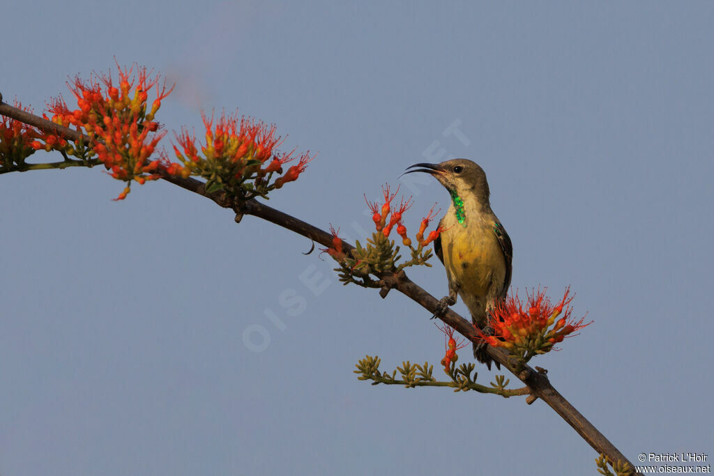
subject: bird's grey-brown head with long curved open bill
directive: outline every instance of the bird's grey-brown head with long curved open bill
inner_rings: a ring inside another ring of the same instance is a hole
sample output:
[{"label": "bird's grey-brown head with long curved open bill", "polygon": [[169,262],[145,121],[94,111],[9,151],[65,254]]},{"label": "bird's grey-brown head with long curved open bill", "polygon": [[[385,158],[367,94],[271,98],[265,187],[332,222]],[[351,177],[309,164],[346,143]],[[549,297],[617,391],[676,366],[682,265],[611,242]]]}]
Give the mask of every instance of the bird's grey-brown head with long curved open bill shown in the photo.
[{"label": "bird's grey-brown head with long curved open bill", "polygon": [[456,192],[461,197],[475,196],[479,203],[488,204],[486,173],[476,162],[455,158],[442,163],[415,163],[407,167],[405,173],[412,172],[429,173],[450,193]]}]

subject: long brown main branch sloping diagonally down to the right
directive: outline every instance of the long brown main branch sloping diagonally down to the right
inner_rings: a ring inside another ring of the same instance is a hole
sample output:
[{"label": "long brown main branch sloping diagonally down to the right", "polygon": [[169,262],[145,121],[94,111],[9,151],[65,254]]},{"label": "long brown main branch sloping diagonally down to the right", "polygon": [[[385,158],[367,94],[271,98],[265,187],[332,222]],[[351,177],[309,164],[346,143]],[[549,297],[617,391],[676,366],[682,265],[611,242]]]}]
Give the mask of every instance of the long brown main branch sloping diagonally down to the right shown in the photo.
[{"label": "long brown main branch sloping diagonally down to the right", "polygon": [[[0,94],[0,114],[4,116],[9,116],[15,118],[18,121],[28,123],[31,126],[35,126],[44,131],[59,134],[66,139],[73,141],[79,140],[79,138],[84,137],[85,140],[89,140],[88,136],[83,136],[77,131],[72,131],[69,128],[59,126],[56,123],[47,121],[39,116],[34,116],[34,114],[22,111],[19,108],[9,106],[9,104],[2,102],[2,96]],[[164,174],[162,178],[168,182],[174,183],[174,185],[181,188],[185,188],[188,191],[197,193],[198,195],[204,196],[212,201],[214,201],[218,206],[223,208],[233,208],[236,212],[236,221],[240,221],[243,215],[253,215],[258,218],[263,218],[263,220],[275,223],[278,226],[287,228],[288,230],[294,231],[299,235],[306,236],[323,246],[331,247],[332,245],[332,235],[326,231],[321,230],[309,223],[299,220],[293,216],[283,213],[266,206],[263,203],[259,203],[255,200],[248,200],[245,202],[236,201],[235,198],[228,196],[226,193],[221,191],[214,193],[206,193],[205,184],[193,178],[178,178],[174,176],[169,176]],[[343,250],[347,253],[354,247],[348,243],[343,242]],[[438,305],[438,300],[433,297],[433,295],[423,290],[419,285],[413,283],[405,273],[382,273],[379,275],[382,280],[384,288],[381,290],[381,295],[384,297],[388,292],[388,289],[394,288],[399,292],[407,295],[416,303],[420,304],[423,308],[428,310],[429,313],[434,313]],[[476,335],[476,331],[473,325],[461,315],[458,315],[453,310],[448,309],[441,317],[444,323],[451,325],[452,328],[456,329],[458,333],[468,338],[472,342],[480,342]],[[531,397],[526,401],[530,404],[535,401],[535,397],[540,398],[545,403],[547,403],[553,410],[555,410],[560,417],[563,418],[568,425],[573,427],[573,429],[578,432],[578,435],[583,437],[583,440],[588,442],[588,444],[593,447],[593,449],[605,455],[608,461],[612,464],[621,460],[623,462],[628,462],[630,467],[634,468],[634,465],[613,445],[605,436],[600,433],[600,431],[593,426],[583,415],[578,412],[578,410],[570,405],[568,400],[565,400],[563,395],[560,395],[553,385],[550,385],[550,381],[545,376],[545,373],[540,373],[528,365],[519,363],[518,361],[510,358],[505,350],[498,348],[488,347],[488,353],[491,355],[493,360],[501,363],[504,367],[516,375],[523,383],[528,385],[531,389]],[[636,473],[640,474],[640,473]]]}]

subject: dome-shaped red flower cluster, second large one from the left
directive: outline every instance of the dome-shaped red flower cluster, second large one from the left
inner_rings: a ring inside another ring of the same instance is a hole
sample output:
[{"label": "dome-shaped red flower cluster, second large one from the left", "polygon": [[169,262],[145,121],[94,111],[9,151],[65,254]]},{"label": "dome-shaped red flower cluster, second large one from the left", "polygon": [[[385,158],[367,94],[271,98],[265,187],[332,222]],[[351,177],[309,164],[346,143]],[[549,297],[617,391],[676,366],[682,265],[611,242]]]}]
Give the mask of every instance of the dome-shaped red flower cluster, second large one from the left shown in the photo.
[{"label": "dome-shaped red flower cluster, second large one from the left", "polygon": [[[171,164],[167,171],[183,176],[193,175],[206,178],[218,184],[219,188],[233,192],[243,188],[258,194],[267,193],[273,188],[281,188],[285,183],[297,180],[312,160],[309,153],[303,153],[298,163],[283,173],[283,164],[293,161],[295,151],[278,153],[276,148],[283,142],[276,136],[275,126],[268,126],[261,121],[221,114],[218,121],[213,116],[203,116],[206,127],[206,144],[201,146],[202,156],[198,154],[196,137],[185,129],[176,134],[178,146],[174,146],[178,164]],[[273,173],[281,175],[271,183]],[[252,181],[249,186],[243,186]]]}]

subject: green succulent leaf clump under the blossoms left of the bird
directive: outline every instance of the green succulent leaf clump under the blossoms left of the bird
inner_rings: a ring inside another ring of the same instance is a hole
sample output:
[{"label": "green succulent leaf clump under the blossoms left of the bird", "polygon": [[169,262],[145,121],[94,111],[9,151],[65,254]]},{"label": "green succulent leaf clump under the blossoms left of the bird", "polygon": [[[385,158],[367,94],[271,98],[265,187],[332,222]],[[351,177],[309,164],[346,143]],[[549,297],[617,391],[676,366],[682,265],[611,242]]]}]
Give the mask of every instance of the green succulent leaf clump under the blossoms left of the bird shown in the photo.
[{"label": "green succulent leaf clump under the blossoms left of the bird", "polygon": [[359,240],[355,243],[355,248],[351,253],[340,261],[340,267],[335,268],[340,280],[343,284],[355,283],[365,288],[378,288],[376,280],[370,275],[376,275],[384,272],[398,273],[408,266],[426,265],[427,260],[431,258],[431,248],[409,247],[411,251],[411,259],[404,263],[398,263],[402,256],[399,254],[401,249],[395,245],[394,240],[390,240],[384,236],[384,233],[379,231],[372,234],[371,238],[367,238],[366,245],[362,245]]}]

